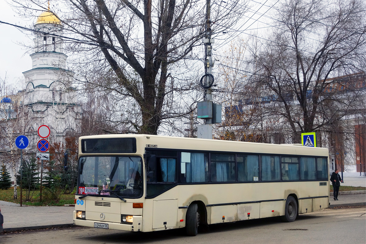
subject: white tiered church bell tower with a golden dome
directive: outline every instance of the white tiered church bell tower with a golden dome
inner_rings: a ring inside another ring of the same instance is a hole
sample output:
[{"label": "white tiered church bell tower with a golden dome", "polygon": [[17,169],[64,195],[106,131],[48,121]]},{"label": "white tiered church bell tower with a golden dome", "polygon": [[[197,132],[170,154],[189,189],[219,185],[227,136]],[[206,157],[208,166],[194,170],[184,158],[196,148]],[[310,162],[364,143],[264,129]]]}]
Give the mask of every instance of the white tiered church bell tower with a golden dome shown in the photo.
[{"label": "white tiered church bell tower with a golden dome", "polygon": [[43,12],[34,30],[31,69],[23,72],[26,83],[23,106],[34,117],[33,134],[37,135],[38,127],[45,124],[55,140],[55,136],[78,130],[81,105],[77,104],[76,90],[72,87],[74,72],[65,69],[67,55],[63,53],[60,20],[51,12]]}]

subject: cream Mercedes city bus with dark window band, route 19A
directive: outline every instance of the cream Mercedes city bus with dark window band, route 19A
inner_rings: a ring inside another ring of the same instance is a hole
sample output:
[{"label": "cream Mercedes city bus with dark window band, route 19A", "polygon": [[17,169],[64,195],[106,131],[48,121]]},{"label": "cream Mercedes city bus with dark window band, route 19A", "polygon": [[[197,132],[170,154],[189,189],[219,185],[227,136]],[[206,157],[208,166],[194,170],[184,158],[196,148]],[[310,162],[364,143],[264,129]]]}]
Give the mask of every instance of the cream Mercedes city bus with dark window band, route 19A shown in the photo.
[{"label": "cream Mercedes city bus with dark window band, route 19A", "polygon": [[[329,206],[328,149],[157,135],[79,138],[74,225],[152,232]],[[66,165],[66,162],[65,162]]]}]

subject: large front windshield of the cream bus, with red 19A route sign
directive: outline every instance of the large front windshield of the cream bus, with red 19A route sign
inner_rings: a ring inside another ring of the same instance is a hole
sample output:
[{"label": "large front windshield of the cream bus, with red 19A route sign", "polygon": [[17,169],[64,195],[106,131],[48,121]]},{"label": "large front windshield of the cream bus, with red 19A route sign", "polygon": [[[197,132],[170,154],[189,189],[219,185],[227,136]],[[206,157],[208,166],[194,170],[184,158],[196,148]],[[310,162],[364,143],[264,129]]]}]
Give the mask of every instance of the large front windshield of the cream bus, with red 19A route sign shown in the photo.
[{"label": "large front windshield of the cream bus, with red 19A route sign", "polygon": [[78,194],[123,198],[142,196],[141,157],[81,157],[79,174]]}]

